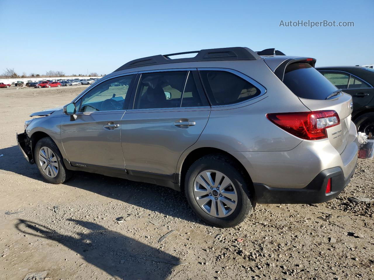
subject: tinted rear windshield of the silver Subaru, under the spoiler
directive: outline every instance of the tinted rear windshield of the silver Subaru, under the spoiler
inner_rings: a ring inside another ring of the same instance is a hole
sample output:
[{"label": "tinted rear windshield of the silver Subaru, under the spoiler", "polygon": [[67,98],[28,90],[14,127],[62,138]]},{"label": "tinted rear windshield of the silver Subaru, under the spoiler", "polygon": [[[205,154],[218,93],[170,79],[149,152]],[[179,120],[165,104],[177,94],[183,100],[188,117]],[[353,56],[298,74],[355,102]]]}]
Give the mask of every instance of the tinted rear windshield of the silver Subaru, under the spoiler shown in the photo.
[{"label": "tinted rear windshield of the silver Subaru, under the spoiler", "polygon": [[287,66],[283,83],[298,97],[324,100],[337,88],[309,63]]}]

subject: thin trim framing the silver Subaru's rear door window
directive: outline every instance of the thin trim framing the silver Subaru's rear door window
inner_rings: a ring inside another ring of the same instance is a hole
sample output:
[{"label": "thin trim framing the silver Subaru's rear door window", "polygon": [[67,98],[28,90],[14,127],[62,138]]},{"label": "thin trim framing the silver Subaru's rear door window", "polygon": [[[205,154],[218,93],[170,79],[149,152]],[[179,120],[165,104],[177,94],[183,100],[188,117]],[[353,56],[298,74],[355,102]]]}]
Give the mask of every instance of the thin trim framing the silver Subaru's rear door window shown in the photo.
[{"label": "thin trim framing the silver Subaru's rear door window", "polygon": [[[141,80],[141,76],[142,76],[141,74],[143,74],[143,73],[158,73],[158,72],[175,72],[175,71],[186,71],[187,72],[186,79],[184,80],[184,84],[183,84],[183,92],[182,92],[181,102],[180,102],[179,107],[134,109],[135,98],[136,98],[136,95],[137,95],[138,87],[140,85],[140,80]],[[188,106],[188,107],[182,107],[181,106],[182,101],[183,101],[184,90],[186,88],[186,84],[187,84],[188,77],[189,77],[190,74],[192,75],[192,77],[194,79],[194,82],[197,83],[197,81],[195,80],[195,76],[193,75],[193,71],[197,71],[197,68],[155,69],[155,70],[139,71],[137,81],[135,81],[135,83],[137,83],[137,85],[136,86],[134,85],[134,89],[133,89],[132,94],[131,94],[130,103],[132,105],[129,106],[128,110],[131,110],[131,111],[149,111],[149,110],[168,110],[168,109],[174,110],[174,109],[187,109],[187,108],[188,109],[189,108],[191,108],[191,109],[194,109],[194,108],[210,108],[209,105],[207,105],[207,106]],[[201,81],[200,81],[200,83],[201,83]],[[208,103],[210,103],[208,97],[205,94],[205,92],[200,92],[201,90],[199,90],[199,87],[197,85],[196,85],[196,88],[197,88],[197,91],[199,93],[200,98],[205,98],[208,101]]]}]

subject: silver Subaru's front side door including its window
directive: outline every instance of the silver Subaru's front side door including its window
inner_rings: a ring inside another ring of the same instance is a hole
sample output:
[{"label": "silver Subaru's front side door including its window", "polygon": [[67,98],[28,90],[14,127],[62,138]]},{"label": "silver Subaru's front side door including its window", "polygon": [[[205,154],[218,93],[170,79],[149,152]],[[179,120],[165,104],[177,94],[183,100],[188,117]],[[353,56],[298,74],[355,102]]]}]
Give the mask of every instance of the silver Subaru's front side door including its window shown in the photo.
[{"label": "silver Subaru's front side door including its window", "polygon": [[61,140],[72,165],[125,169],[121,118],[134,77],[120,76],[99,83],[77,100],[76,120],[63,118]]}]

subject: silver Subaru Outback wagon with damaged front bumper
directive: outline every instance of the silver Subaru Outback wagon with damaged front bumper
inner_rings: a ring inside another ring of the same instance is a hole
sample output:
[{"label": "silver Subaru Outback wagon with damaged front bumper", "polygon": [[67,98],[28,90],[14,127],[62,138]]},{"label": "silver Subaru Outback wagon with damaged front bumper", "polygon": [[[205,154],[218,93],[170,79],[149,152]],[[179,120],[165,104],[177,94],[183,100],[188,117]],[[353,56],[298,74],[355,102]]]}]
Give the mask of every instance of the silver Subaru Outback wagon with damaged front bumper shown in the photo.
[{"label": "silver Subaru Outback wagon with damaged front bumper", "polygon": [[[191,52],[188,52],[191,53]],[[132,60],[17,135],[49,183],[95,172],[183,191],[206,223],[338,196],[357,162],[352,97],[310,57],[246,47]]]}]

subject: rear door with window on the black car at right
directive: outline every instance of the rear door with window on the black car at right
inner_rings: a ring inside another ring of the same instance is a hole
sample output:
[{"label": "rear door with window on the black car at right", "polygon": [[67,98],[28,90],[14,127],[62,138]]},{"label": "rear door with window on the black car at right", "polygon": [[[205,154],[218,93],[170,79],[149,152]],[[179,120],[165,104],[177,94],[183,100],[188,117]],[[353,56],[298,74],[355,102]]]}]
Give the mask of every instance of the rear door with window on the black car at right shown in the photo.
[{"label": "rear door with window on the black car at right", "polygon": [[374,97],[374,89],[360,78],[341,71],[320,71],[327,80],[337,88],[352,96],[353,115],[356,111],[366,106]]}]

